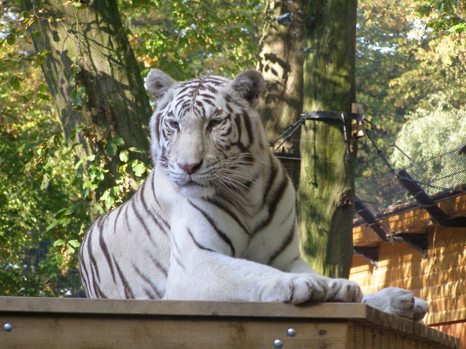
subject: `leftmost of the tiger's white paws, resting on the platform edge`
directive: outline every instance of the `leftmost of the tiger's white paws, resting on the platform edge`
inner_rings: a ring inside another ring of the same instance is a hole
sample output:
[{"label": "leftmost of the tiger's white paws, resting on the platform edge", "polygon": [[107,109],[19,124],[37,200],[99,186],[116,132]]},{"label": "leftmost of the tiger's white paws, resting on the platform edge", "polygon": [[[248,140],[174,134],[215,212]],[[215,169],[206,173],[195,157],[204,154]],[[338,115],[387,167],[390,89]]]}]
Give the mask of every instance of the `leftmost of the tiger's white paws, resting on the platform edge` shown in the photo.
[{"label": "leftmost of the tiger's white paws, resting on the platform edge", "polygon": [[292,275],[266,286],[260,296],[262,302],[320,302],[325,296],[322,280],[308,275]]}]

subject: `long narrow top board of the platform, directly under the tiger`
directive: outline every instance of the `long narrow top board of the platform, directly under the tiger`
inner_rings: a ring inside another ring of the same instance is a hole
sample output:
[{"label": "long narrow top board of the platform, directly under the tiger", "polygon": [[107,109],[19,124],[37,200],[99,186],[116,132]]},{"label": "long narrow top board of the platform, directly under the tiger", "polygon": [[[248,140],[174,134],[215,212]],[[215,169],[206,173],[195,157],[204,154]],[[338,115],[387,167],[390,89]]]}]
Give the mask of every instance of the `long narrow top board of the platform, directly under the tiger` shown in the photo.
[{"label": "long narrow top board of the platform, directly under the tiger", "polygon": [[211,302],[0,297],[0,312],[365,319],[362,303]]}]

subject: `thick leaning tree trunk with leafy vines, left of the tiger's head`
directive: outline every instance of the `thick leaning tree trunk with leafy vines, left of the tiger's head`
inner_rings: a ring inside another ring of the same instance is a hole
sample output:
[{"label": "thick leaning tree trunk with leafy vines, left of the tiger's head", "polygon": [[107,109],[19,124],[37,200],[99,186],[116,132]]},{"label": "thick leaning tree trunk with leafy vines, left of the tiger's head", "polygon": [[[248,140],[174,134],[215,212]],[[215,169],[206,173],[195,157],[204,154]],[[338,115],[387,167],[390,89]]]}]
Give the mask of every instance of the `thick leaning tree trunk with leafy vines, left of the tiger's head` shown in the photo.
[{"label": "thick leaning tree trunk with leafy vines, left of the tiger's head", "polygon": [[[38,17],[32,39],[37,50],[48,51],[42,70],[66,139],[81,145],[80,159],[96,154],[106,159],[109,171],[97,189],[99,198],[120,175],[115,137],[124,141],[117,142],[120,148],[149,150],[151,107],[116,2],[70,2],[26,1],[25,8]],[[147,153],[138,158],[150,162]],[[135,176],[131,171],[128,176],[134,189]]]}]

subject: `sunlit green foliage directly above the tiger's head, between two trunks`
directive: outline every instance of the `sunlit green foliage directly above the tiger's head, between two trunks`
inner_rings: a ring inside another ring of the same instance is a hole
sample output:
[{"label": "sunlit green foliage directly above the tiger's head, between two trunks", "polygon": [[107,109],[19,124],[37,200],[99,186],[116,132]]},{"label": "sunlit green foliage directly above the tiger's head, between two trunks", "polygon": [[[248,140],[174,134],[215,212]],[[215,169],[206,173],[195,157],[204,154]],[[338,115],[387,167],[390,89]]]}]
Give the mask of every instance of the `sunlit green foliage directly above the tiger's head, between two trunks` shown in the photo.
[{"label": "sunlit green foliage directly above the tiger's head, between two trunks", "polygon": [[121,0],[119,7],[145,69],[184,80],[209,73],[231,76],[257,64],[260,0]]}]

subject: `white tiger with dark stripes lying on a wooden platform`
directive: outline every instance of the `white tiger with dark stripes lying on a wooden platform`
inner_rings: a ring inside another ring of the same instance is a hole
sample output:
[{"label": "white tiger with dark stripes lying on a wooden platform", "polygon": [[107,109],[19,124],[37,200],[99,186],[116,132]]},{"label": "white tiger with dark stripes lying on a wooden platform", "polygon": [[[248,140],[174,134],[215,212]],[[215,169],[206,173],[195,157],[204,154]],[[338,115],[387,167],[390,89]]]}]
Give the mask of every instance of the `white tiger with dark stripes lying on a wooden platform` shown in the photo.
[{"label": "white tiger with dark stripes lying on a wooden platform", "polygon": [[428,305],[411,292],[362,296],[355,282],[323,277],[301,258],[293,186],[254,110],[264,86],[256,70],[186,82],[149,72],[154,169],[86,233],[79,266],[88,297],[362,301],[422,319]]}]

